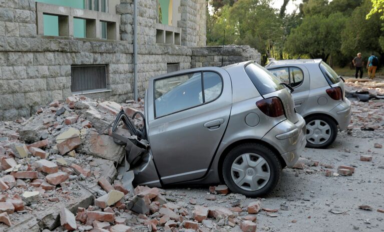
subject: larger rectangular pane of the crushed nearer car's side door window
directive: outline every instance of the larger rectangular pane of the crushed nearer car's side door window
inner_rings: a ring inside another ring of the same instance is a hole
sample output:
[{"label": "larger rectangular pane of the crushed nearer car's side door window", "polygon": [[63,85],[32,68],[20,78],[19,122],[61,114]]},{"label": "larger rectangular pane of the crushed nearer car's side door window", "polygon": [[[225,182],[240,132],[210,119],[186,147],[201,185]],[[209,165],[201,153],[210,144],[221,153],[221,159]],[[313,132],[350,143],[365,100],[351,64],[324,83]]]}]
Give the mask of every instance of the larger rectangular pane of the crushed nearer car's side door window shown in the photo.
[{"label": "larger rectangular pane of the crushed nearer car's side door window", "polygon": [[201,72],[155,80],[155,115],[161,117],[203,103]]}]

